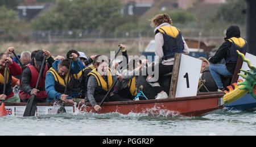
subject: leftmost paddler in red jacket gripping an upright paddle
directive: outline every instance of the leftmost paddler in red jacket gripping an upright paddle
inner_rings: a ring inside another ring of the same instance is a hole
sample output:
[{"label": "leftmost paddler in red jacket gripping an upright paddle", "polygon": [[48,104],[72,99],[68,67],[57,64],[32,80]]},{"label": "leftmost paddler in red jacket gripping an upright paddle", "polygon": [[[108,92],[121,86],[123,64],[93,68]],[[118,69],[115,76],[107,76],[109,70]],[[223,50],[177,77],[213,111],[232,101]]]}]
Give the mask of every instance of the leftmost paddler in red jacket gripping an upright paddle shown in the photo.
[{"label": "leftmost paddler in red jacket gripping an upright paddle", "polygon": [[[0,53],[0,100],[5,100],[5,102],[15,102],[19,103],[19,96],[13,93],[13,87],[11,86],[13,80],[11,76],[19,75],[22,73],[22,69],[18,64],[13,62],[13,60],[9,57],[14,51],[14,47],[9,47],[6,53]],[[8,62],[8,69],[6,69],[6,63]],[[7,70],[7,75],[5,75],[5,71]],[[5,85],[5,77],[6,79],[6,91],[3,94],[3,86]]]}]

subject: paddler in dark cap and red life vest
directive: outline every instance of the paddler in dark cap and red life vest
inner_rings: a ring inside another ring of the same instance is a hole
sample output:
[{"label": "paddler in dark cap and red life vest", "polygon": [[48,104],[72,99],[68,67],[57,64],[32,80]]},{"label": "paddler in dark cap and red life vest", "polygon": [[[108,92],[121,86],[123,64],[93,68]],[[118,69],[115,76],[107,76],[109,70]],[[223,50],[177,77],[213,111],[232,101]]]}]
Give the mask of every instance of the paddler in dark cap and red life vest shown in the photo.
[{"label": "paddler in dark cap and red life vest", "polygon": [[36,95],[39,103],[46,102],[47,93],[44,89],[46,72],[48,71],[49,65],[44,64],[42,77],[39,80],[38,89],[35,89],[36,82],[40,69],[43,64],[43,58],[45,53],[43,51],[36,52],[32,60],[25,66],[22,72],[22,80],[20,83],[21,90],[19,91],[20,102],[27,103],[31,95]]}]

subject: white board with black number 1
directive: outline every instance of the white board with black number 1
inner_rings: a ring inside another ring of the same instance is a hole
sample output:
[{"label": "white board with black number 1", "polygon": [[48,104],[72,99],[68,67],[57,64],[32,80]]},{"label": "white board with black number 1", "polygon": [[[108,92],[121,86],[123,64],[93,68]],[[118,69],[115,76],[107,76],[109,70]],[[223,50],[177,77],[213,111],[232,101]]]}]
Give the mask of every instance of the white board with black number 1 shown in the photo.
[{"label": "white board with black number 1", "polygon": [[202,61],[181,54],[175,98],[196,96]]}]

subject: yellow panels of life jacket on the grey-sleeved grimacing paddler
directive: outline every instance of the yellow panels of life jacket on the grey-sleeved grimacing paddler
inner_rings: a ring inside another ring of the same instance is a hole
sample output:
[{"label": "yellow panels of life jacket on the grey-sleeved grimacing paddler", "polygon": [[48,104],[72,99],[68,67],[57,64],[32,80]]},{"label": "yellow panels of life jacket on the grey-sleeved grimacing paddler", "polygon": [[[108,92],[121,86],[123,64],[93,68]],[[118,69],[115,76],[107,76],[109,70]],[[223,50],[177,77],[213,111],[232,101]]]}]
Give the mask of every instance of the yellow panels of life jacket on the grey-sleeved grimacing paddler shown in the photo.
[{"label": "yellow panels of life jacket on the grey-sleeved grimacing paddler", "polygon": [[108,72],[109,72],[108,75],[106,75],[107,79],[108,79],[108,83],[101,77],[101,75],[97,72],[96,69],[93,69],[88,74],[88,76],[93,75],[97,79],[98,86],[100,86],[105,91],[109,91],[110,87],[113,85],[113,77],[112,77],[112,74],[110,72],[110,69],[109,69]]}]

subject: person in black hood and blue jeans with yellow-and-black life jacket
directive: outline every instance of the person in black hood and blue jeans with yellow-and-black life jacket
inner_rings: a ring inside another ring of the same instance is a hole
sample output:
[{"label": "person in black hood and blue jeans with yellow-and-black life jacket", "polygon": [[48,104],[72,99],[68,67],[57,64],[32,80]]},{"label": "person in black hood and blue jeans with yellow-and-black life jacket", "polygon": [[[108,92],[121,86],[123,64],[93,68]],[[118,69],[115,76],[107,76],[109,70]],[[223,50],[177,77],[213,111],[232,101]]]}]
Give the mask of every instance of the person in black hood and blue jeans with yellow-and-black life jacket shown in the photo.
[{"label": "person in black hood and blue jeans with yellow-and-black life jacket", "polygon": [[[247,52],[247,42],[240,36],[240,28],[238,26],[230,26],[226,30],[225,42],[218,48],[213,57],[209,58],[210,73],[218,86],[218,91],[224,91],[225,88],[221,82],[220,75],[232,75],[236,68],[238,53]],[[222,59],[225,59],[225,64],[217,64]]]}]

